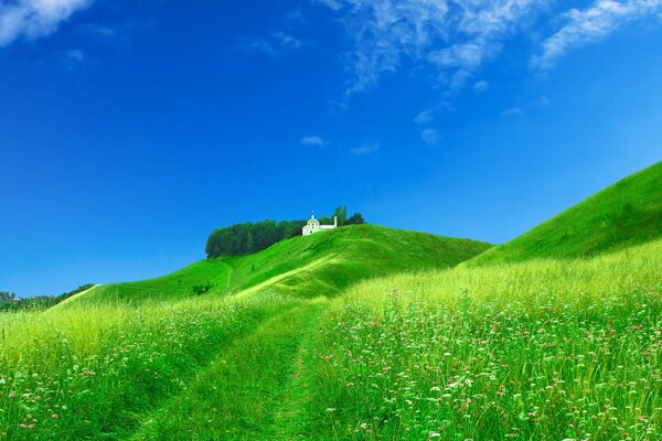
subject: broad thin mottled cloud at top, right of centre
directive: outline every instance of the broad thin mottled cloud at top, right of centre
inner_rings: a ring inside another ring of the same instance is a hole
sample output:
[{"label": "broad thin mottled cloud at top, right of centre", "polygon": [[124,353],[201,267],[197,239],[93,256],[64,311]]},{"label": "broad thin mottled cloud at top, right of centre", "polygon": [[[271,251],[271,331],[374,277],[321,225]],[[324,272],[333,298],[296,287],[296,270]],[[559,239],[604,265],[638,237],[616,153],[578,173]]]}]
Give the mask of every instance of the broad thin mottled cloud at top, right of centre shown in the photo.
[{"label": "broad thin mottled cloud at top, right of centre", "polygon": [[465,86],[549,0],[314,0],[341,14],[353,49],[346,95],[373,86],[404,60]]}]

